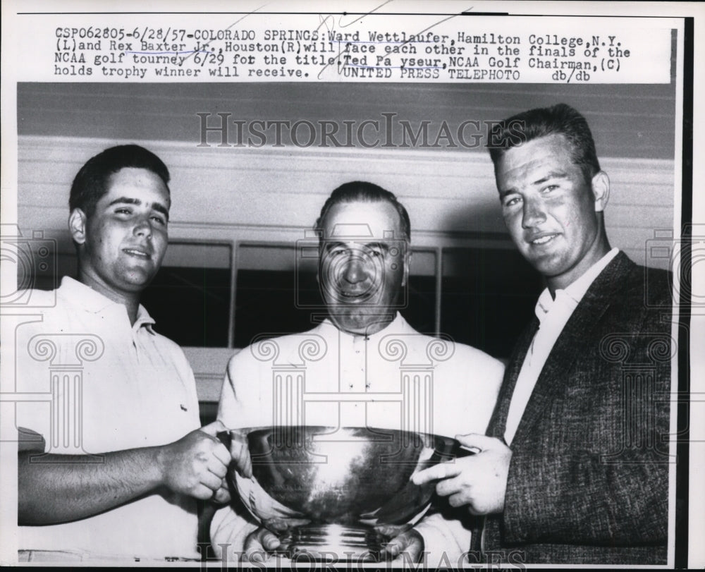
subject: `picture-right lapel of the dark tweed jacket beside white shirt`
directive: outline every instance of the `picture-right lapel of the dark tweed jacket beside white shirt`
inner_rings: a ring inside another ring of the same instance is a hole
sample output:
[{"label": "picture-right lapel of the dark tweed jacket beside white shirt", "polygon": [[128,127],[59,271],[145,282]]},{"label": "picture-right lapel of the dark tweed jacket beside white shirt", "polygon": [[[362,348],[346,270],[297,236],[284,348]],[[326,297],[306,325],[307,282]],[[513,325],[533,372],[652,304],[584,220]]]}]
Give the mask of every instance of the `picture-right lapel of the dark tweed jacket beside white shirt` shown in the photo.
[{"label": "picture-right lapel of the dark tweed jacket beside white shirt", "polygon": [[[568,374],[580,353],[579,348],[587,340],[592,339],[594,329],[598,327],[601,317],[613,303],[615,291],[620,288],[633,266],[634,263],[620,252],[588,288],[563,331],[560,332],[551,353],[548,354],[517,427],[513,444],[519,444],[529,437],[534,423],[542,417],[544,409],[551,404],[552,397],[563,391],[565,384],[570,382]],[[525,355],[525,352],[522,355]],[[518,368],[521,368],[522,361],[517,364]],[[512,391],[518,375],[517,371],[513,379]],[[508,403],[506,408],[508,410]]]}]

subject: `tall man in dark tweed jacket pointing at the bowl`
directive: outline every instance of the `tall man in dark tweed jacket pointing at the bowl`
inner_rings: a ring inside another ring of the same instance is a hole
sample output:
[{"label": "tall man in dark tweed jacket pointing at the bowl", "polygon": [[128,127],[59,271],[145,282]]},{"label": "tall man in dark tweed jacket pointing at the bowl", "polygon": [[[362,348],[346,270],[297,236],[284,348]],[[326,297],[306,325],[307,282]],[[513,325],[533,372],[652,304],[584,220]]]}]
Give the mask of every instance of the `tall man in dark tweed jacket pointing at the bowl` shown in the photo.
[{"label": "tall man in dark tweed jacket pointing at the bowl", "polygon": [[415,481],[441,478],[451,505],[486,515],[472,543],[486,562],[666,564],[669,275],[610,248],[609,180],[575,109],[514,116],[489,147],[505,224],[546,290],[487,435],[460,437],[479,452]]}]

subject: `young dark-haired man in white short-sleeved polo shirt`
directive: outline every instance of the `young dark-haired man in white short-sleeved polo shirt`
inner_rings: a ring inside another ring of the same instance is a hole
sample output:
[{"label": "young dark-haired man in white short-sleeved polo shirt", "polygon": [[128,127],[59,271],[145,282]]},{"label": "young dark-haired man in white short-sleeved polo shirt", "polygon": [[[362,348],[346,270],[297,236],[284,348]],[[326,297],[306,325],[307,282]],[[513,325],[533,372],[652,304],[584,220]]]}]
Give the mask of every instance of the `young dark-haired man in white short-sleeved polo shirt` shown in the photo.
[{"label": "young dark-haired man in white short-sleeved polo shirt", "polygon": [[18,391],[37,395],[16,406],[21,561],[196,558],[195,499],[229,499],[223,427],[199,429],[191,368],[140,305],[166,252],[168,181],[137,145],[73,181],[78,280],[34,292],[42,315],[16,331]]}]

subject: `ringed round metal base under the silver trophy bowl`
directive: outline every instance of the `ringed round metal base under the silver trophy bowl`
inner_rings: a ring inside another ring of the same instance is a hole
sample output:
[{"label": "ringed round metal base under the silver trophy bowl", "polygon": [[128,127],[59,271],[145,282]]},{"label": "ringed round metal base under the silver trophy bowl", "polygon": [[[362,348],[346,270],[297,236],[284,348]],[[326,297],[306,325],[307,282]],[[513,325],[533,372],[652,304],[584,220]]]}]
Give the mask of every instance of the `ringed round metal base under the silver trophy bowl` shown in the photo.
[{"label": "ringed round metal base under the silver trophy bowl", "polygon": [[365,525],[316,524],[292,528],[281,538],[291,559],[379,562],[386,538]]}]

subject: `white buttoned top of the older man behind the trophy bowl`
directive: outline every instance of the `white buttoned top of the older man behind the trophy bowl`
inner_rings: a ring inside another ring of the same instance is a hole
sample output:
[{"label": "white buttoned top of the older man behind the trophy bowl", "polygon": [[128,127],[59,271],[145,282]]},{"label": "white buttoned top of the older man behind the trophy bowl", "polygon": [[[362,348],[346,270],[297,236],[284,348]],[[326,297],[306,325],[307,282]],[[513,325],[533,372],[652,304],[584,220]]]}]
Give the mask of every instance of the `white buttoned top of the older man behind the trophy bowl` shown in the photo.
[{"label": "white buttoned top of the older man behind the trophy bowl", "polygon": [[[233,356],[218,418],[231,429],[324,425],[450,437],[484,433],[503,370],[482,351],[419,334],[401,315],[367,337],[326,320],[311,331],[255,343]],[[211,525],[216,554],[221,543],[230,544],[228,552],[242,550],[257,528],[243,511],[226,506],[216,512]],[[416,528],[426,549],[436,552],[436,562],[443,552],[458,561],[470,546],[470,530],[440,513]]]}]

